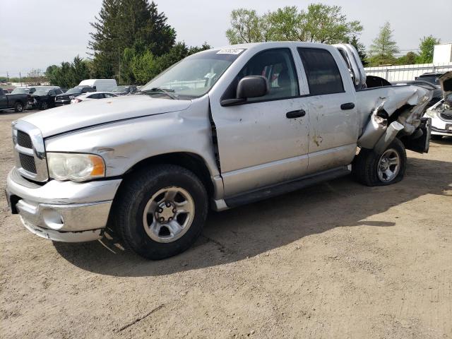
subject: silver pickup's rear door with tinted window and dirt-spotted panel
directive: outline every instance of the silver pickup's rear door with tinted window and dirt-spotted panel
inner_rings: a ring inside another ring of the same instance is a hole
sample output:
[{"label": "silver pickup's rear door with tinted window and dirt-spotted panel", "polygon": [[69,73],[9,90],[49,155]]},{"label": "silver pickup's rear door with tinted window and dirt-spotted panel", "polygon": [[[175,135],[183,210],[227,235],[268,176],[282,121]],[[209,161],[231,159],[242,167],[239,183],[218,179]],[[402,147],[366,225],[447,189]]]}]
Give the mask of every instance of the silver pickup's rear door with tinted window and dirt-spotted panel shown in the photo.
[{"label": "silver pickup's rear door with tinted window and dirt-spotted panel", "polygon": [[355,157],[359,133],[350,73],[338,67],[337,63],[343,62],[340,55],[327,48],[297,50],[309,87],[308,172],[348,165]]}]

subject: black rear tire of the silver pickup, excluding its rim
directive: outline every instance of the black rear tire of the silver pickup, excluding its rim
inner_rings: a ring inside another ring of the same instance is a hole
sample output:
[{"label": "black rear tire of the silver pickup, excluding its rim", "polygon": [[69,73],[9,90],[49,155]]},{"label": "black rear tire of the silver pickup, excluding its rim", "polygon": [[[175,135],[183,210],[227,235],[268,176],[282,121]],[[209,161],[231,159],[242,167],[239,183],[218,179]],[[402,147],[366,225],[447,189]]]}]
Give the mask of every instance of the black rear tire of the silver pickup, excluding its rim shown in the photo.
[{"label": "black rear tire of the silver pickup, excluding its rim", "polygon": [[[396,177],[393,177],[393,179],[388,181],[383,181],[378,174],[378,165],[381,156],[387,150],[394,150],[398,154],[400,167]],[[396,184],[396,182],[400,182],[400,180],[403,179],[406,164],[407,154],[405,146],[398,138],[395,138],[388,148],[386,148],[386,150],[384,150],[381,154],[376,154],[374,150],[362,148],[357,157],[355,157],[355,160],[353,160],[352,174],[357,182],[366,186],[386,186]]]}]

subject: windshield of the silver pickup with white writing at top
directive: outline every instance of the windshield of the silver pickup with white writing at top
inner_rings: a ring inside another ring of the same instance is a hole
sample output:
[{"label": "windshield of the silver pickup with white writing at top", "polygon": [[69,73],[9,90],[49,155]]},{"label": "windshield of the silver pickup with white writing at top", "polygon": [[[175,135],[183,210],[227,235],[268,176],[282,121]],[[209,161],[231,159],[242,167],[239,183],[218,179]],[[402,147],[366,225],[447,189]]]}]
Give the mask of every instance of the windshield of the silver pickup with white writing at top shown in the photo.
[{"label": "windshield of the silver pickup with white writing at top", "polygon": [[243,51],[221,49],[191,55],[160,73],[140,90],[145,94],[162,93],[163,90],[163,93],[170,92],[176,99],[201,97]]}]

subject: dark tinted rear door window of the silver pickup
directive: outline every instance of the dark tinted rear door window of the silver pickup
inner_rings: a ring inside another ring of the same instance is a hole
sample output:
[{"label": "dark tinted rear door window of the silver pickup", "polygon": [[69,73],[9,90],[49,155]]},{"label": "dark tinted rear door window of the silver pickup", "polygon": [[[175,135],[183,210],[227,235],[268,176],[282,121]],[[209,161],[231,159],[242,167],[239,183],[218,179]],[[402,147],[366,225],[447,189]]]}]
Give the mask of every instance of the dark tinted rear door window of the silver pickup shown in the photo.
[{"label": "dark tinted rear door window of the silver pickup", "polygon": [[320,48],[298,48],[298,53],[303,62],[311,95],[344,91],[338,65],[330,52]]}]

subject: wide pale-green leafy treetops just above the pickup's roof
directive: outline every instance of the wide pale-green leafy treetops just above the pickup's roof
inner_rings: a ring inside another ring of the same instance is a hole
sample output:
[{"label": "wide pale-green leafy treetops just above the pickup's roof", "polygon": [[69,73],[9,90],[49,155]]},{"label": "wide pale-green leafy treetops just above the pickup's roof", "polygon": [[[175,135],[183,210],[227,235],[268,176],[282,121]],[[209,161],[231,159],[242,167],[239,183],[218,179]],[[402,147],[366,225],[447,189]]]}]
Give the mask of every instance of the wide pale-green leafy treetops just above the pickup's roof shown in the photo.
[{"label": "wide pale-green leafy treetops just above the pickup's roof", "polygon": [[334,44],[361,31],[359,21],[347,21],[340,6],[310,4],[307,10],[286,6],[263,16],[254,10],[235,9],[226,37],[231,44],[281,40]]}]

